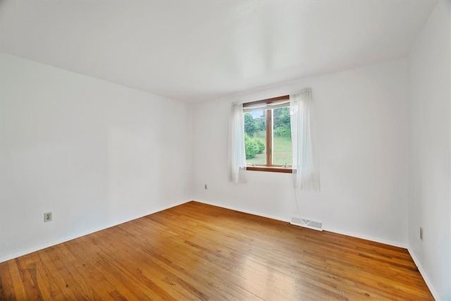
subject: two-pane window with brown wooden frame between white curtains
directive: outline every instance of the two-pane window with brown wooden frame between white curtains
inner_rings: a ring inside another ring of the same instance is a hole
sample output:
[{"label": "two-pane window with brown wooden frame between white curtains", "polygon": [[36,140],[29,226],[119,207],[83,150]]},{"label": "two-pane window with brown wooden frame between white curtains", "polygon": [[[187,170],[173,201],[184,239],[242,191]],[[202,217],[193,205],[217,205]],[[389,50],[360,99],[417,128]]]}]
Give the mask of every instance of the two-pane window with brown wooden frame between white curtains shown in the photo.
[{"label": "two-pane window with brown wooden frame between white curtains", "polygon": [[247,170],[292,172],[290,97],[243,104]]}]

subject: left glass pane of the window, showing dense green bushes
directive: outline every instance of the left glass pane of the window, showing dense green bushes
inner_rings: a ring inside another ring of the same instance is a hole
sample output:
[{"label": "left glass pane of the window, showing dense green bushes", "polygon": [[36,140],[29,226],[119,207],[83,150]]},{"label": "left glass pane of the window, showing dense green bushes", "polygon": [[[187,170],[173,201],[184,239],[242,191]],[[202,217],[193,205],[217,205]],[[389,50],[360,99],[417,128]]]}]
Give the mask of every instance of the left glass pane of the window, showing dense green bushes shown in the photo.
[{"label": "left glass pane of the window, showing dense green bushes", "polygon": [[247,164],[266,164],[266,111],[245,113]]}]

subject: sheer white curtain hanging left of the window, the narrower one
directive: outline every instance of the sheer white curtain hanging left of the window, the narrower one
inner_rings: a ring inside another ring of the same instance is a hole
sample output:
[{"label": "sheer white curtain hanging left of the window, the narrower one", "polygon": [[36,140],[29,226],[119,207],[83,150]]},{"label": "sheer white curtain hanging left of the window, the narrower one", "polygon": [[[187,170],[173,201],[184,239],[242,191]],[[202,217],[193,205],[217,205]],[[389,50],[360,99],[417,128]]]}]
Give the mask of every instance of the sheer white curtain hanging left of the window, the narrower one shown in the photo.
[{"label": "sheer white curtain hanging left of the window, the narrower one", "polygon": [[245,151],[245,118],[242,104],[232,104],[230,116],[230,181],[245,182],[246,151]]}]

